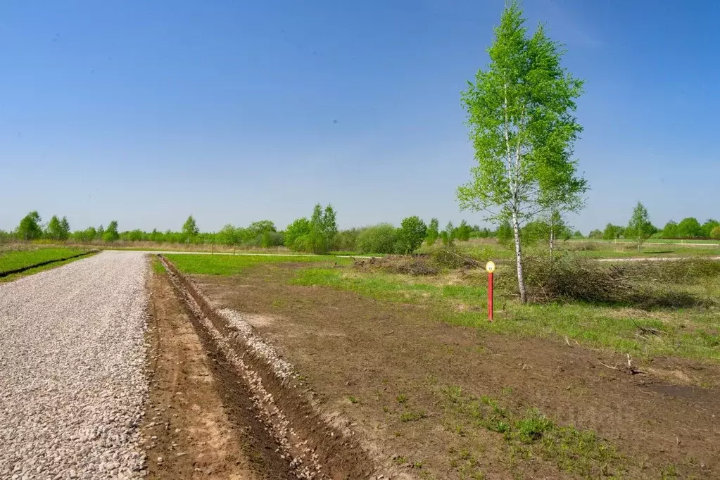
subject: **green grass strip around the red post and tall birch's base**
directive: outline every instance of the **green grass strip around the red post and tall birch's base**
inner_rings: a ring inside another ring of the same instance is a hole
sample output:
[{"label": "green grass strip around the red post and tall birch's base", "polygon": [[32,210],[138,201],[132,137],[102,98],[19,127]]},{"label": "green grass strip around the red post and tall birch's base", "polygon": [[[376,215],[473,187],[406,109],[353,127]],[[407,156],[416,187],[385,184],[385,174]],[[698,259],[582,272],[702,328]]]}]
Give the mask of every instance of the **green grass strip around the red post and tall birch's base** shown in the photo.
[{"label": "green grass strip around the red post and tall birch's base", "polygon": [[[720,316],[710,309],[639,309],[566,302],[521,305],[495,297],[495,322],[487,321],[484,284],[447,285],[423,277],[390,273],[359,273],[346,268],[307,268],[295,273],[293,284],[355,291],[384,302],[418,304],[433,309],[431,317],[479,330],[557,338],[593,348],[630,353],[634,358],[680,356],[720,361]],[[482,282],[482,273],[468,282]],[[720,279],[691,287],[720,296]],[[503,308],[504,307],[504,308]],[[643,329],[652,329],[644,334]]]}]

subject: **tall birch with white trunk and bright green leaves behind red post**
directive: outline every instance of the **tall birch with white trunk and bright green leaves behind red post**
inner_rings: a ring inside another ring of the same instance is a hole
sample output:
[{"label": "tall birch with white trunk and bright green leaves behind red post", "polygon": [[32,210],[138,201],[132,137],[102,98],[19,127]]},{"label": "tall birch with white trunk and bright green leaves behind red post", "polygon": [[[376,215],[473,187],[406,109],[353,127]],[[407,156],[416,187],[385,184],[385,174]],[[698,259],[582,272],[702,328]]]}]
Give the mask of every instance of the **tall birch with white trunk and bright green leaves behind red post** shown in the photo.
[{"label": "tall birch with white trunk and bright green leaves behind red post", "polygon": [[462,209],[509,220],[521,302],[527,301],[521,226],[546,211],[551,189],[584,183],[570,160],[582,131],[574,116],[582,81],[562,68],[564,50],[542,24],[531,36],[524,25],[518,2],[511,1],[487,49],[490,62],[462,93],[477,165],[457,191]]}]

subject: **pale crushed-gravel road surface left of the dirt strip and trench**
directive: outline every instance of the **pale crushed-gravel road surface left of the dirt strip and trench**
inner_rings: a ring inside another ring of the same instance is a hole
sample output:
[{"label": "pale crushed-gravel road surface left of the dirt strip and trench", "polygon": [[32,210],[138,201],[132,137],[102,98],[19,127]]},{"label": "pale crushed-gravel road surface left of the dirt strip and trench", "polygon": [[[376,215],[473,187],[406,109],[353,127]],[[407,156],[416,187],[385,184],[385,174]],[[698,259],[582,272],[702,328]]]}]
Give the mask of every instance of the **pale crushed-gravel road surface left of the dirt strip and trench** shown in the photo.
[{"label": "pale crushed-gravel road surface left of the dirt strip and trench", "polygon": [[0,479],[143,476],[146,272],[104,252],[0,284]]}]

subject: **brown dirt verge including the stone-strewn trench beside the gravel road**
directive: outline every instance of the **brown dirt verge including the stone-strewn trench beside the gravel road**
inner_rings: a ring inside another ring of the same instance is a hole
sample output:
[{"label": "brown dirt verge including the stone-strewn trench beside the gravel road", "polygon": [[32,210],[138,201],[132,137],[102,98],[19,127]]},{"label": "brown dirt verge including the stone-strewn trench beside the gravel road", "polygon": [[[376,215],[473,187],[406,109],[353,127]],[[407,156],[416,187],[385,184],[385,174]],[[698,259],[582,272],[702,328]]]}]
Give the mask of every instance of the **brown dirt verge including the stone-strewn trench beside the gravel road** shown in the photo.
[{"label": "brown dirt verge including the stone-strewn trench beside the gravel road", "polygon": [[[163,259],[161,259],[163,261]],[[171,264],[153,273],[150,479],[365,479],[374,462],[313,393],[243,343]]]}]

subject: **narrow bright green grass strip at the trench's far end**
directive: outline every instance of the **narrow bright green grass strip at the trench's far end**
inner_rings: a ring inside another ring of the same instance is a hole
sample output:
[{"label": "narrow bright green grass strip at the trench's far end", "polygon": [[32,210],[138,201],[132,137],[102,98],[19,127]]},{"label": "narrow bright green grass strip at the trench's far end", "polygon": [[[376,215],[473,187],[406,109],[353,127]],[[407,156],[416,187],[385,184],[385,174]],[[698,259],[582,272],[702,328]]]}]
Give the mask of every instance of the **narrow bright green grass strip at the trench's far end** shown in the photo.
[{"label": "narrow bright green grass strip at the trench's far end", "polygon": [[238,275],[244,269],[258,264],[277,263],[351,263],[348,258],[328,257],[322,255],[282,256],[282,255],[192,255],[170,254],[166,258],[183,273],[192,275]]}]

